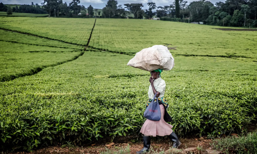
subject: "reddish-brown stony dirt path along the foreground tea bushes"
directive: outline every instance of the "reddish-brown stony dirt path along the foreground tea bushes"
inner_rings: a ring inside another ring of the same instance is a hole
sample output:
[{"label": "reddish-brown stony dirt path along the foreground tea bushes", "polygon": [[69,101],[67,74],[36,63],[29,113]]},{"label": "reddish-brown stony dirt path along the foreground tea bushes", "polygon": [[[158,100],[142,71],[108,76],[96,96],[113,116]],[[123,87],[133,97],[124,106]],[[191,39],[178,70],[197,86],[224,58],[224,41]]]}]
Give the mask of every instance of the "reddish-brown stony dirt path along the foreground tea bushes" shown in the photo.
[{"label": "reddish-brown stony dirt path along the foreground tea bushes", "polygon": [[[200,141],[201,140],[201,141]],[[173,153],[179,153],[179,154],[186,154],[190,153],[199,153],[199,154],[208,154],[212,153],[212,148],[210,146],[210,143],[213,142],[213,140],[207,139],[206,137],[204,138],[191,138],[191,139],[180,139],[182,145],[178,148],[178,151],[174,151]],[[125,141],[126,142],[126,141]],[[132,142],[126,142],[122,143],[115,143],[116,145],[109,146],[109,148],[106,146],[108,145],[107,143],[102,143],[102,144],[93,144],[93,145],[83,145],[80,147],[73,147],[73,146],[66,146],[64,148],[61,148],[60,146],[53,146],[53,147],[46,147],[46,148],[41,148],[38,150],[34,150],[33,152],[12,152],[11,154],[20,154],[20,153],[35,153],[35,154],[99,154],[101,151],[106,149],[109,150],[115,150],[118,148],[115,147],[121,147],[125,148],[128,146],[130,147],[131,154],[136,153],[136,151],[139,151],[143,147],[143,143],[132,143]],[[151,141],[151,147],[153,148],[153,151],[166,151],[166,153],[169,153],[169,149],[171,147],[171,143],[169,139],[163,139],[161,141]],[[197,148],[198,147],[198,148]],[[200,150],[199,150],[200,149]],[[168,151],[167,151],[168,150]],[[172,150],[172,149],[170,149]],[[174,149],[173,149],[174,150]],[[209,152],[207,152],[207,151]],[[9,152],[8,152],[9,153]],[[155,153],[155,152],[150,152],[150,153]],[[172,153],[172,152],[170,152]],[[219,152],[218,152],[219,153]]]}]

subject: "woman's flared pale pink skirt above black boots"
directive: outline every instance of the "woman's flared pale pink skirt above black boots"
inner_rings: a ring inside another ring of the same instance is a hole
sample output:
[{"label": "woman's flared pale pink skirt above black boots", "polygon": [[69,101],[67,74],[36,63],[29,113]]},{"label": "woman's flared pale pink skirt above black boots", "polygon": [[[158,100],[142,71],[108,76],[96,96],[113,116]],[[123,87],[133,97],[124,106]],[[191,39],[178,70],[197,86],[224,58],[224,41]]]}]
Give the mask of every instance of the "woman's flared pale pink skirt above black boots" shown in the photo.
[{"label": "woman's flared pale pink skirt above black boots", "polygon": [[172,133],[173,130],[171,128],[173,126],[165,122],[163,119],[165,109],[162,104],[160,105],[160,109],[161,109],[161,120],[153,121],[153,120],[146,119],[146,121],[144,122],[140,130],[140,133],[147,136],[153,136],[153,137],[155,137],[156,135],[158,136],[170,135]]}]

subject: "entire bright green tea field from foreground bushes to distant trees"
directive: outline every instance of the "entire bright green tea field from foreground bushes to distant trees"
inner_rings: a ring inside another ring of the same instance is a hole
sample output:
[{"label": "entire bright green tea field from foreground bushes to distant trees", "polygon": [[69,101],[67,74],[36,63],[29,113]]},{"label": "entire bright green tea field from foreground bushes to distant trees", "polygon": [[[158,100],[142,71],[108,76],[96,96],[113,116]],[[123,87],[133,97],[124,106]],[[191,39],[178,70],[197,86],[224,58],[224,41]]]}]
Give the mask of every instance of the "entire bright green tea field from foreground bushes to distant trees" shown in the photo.
[{"label": "entire bright green tea field from foreground bushes to distant trees", "polygon": [[126,64],[155,44],[178,46],[175,67],[162,73],[173,130],[241,132],[257,112],[257,33],[213,28],[220,27],[0,17],[0,148],[140,135],[150,73]]}]

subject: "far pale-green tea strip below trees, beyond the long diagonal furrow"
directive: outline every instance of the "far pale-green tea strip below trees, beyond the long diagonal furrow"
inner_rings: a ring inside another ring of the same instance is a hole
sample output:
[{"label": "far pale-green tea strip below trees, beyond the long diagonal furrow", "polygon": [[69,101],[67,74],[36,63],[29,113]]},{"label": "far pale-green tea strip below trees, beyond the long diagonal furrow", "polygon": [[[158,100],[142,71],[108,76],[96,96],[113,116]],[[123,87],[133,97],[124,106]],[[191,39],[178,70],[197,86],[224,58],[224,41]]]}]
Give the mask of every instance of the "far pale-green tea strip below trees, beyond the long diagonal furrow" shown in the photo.
[{"label": "far pale-green tea strip below trees, beyond the long diagonal furrow", "polygon": [[[0,27],[32,33],[78,45],[87,44],[95,19],[2,19]],[[89,46],[117,53],[135,54],[155,44],[178,46],[174,54],[211,55],[257,60],[257,31],[221,31],[224,28],[180,22],[97,19]]]}]

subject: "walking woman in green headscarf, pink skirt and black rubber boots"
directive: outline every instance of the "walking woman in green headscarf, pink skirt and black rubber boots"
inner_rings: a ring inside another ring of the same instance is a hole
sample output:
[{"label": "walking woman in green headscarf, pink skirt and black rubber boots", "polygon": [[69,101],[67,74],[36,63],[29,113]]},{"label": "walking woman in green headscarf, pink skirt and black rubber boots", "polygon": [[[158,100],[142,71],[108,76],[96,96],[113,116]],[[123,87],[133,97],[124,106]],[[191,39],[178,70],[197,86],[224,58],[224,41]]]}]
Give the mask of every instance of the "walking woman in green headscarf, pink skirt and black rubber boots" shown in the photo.
[{"label": "walking woman in green headscarf, pink skirt and black rubber boots", "polygon": [[164,119],[165,120],[167,119],[166,114],[168,113],[166,109],[168,108],[168,104],[163,98],[166,84],[165,84],[165,81],[161,79],[161,72],[162,72],[162,69],[151,71],[151,77],[149,80],[151,84],[148,90],[149,100],[146,103],[146,107],[147,107],[149,103],[152,101],[155,93],[157,92],[156,97],[158,98],[158,102],[161,102],[159,103],[160,109],[161,109],[161,120],[152,121],[152,120],[146,119],[146,121],[144,122],[140,130],[140,133],[144,134],[143,136],[144,147],[143,149],[141,149],[140,151],[137,151],[136,153],[143,153],[143,152],[149,151],[150,144],[151,144],[150,136],[155,137],[156,135],[158,136],[168,135],[169,139],[174,142],[173,148],[178,148],[181,145],[181,142],[179,141],[177,135],[171,129],[173,126],[164,121]]}]

